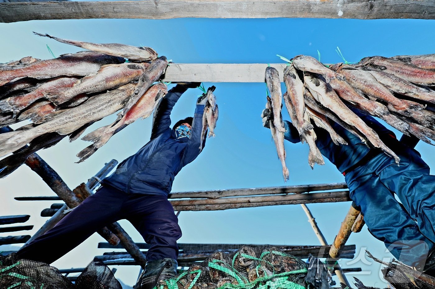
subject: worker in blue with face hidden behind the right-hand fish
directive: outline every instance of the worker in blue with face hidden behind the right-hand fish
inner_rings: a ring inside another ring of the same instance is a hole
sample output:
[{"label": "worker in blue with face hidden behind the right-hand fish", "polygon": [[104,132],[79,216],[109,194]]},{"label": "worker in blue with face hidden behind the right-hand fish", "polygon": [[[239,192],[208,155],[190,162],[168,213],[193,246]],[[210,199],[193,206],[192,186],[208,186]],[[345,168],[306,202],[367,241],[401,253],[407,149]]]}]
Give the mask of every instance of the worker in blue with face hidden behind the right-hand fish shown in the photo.
[{"label": "worker in blue with face hidden behind the right-hand fish", "polygon": [[[399,261],[422,271],[435,242],[435,176],[429,174],[418,151],[398,141],[392,131],[371,116],[354,112],[399,156],[399,165],[335,122],[331,122],[332,127],[348,145],[334,144],[325,129],[314,126],[316,145],[345,175],[353,205],[361,207],[371,234],[383,241]],[[271,112],[265,109],[261,117],[263,125],[269,127]],[[284,121],[284,127],[286,140],[301,141],[291,122]]]}]

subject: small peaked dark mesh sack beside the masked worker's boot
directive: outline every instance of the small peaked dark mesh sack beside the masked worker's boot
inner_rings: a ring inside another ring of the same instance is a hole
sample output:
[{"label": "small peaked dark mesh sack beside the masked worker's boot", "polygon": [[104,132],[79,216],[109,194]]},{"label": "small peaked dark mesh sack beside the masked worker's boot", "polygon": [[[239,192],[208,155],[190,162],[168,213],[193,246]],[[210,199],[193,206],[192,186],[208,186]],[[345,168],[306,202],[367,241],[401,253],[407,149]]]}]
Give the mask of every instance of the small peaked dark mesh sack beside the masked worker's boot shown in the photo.
[{"label": "small peaked dark mesh sack beside the masked worker's boot", "polygon": [[77,277],[77,289],[122,289],[120,282],[102,261],[95,258]]}]

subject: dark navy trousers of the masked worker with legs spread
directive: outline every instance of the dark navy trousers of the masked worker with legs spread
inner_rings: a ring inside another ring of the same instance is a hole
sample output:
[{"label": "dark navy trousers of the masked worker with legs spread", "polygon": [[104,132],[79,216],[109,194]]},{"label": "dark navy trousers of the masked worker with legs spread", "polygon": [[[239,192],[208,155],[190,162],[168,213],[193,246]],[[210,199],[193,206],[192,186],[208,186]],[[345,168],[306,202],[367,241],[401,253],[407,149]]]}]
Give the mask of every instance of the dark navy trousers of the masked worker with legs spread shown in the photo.
[{"label": "dark navy trousers of the masked worker with legs spread", "polygon": [[127,194],[103,186],[67,214],[55,227],[17,252],[23,259],[52,263],[97,230],[126,219],[151,244],[147,261],[177,259],[181,229],[164,195]]}]

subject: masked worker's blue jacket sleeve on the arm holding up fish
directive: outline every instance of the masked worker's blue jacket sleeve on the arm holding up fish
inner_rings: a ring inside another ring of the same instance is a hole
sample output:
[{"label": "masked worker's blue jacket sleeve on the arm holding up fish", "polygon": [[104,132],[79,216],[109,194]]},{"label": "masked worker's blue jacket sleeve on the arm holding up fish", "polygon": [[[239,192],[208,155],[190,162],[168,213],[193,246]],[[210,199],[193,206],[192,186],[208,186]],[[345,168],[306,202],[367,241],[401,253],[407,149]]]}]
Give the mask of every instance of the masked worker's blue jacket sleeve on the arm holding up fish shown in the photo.
[{"label": "masked worker's blue jacket sleeve on the arm holding up fish", "polygon": [[183,158],[181,160],[181,165],[185,166],[186,164],[193,161],[204,149],[205,147],[205,138],[202,143],[202,149],[199,150],[199,146],[201,144],[201,131],[202,131],[202,116],[204,114],[204,105],[196,105],[195,115],[192,122],[192,132],[189,136],[189,140],[187,141],[186,148],[184,149]]}]

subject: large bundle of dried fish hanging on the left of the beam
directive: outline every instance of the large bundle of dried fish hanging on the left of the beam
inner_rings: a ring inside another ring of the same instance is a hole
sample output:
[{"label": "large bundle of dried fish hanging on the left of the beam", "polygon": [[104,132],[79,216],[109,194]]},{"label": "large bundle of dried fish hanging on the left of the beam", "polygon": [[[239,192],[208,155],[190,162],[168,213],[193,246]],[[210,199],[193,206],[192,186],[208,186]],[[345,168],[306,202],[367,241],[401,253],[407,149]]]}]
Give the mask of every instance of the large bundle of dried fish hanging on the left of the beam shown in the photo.
[{"label": "large bundle of dried fish hanging on the left of the beam", "polygon": [[[126,125],[151,115],[167,93],[164,83],[153,85],[167,67],[166,57],[158,57],[154,49],[35,34],[91,51],[48,60],[29,56],[0,65],[0,128],[23,120],[31,122],[0,135],[0,157],[27,143],[30,148],[26,151],[34,152],[66,135],[73,141],[92,123],[122,109],[113,124],[83,138],[94,142],[77,154],[84,161]],[[22,162],[23,158],[14,155],[1,160],[0,169],[9,169],[0,172],[0,177]]]}]

